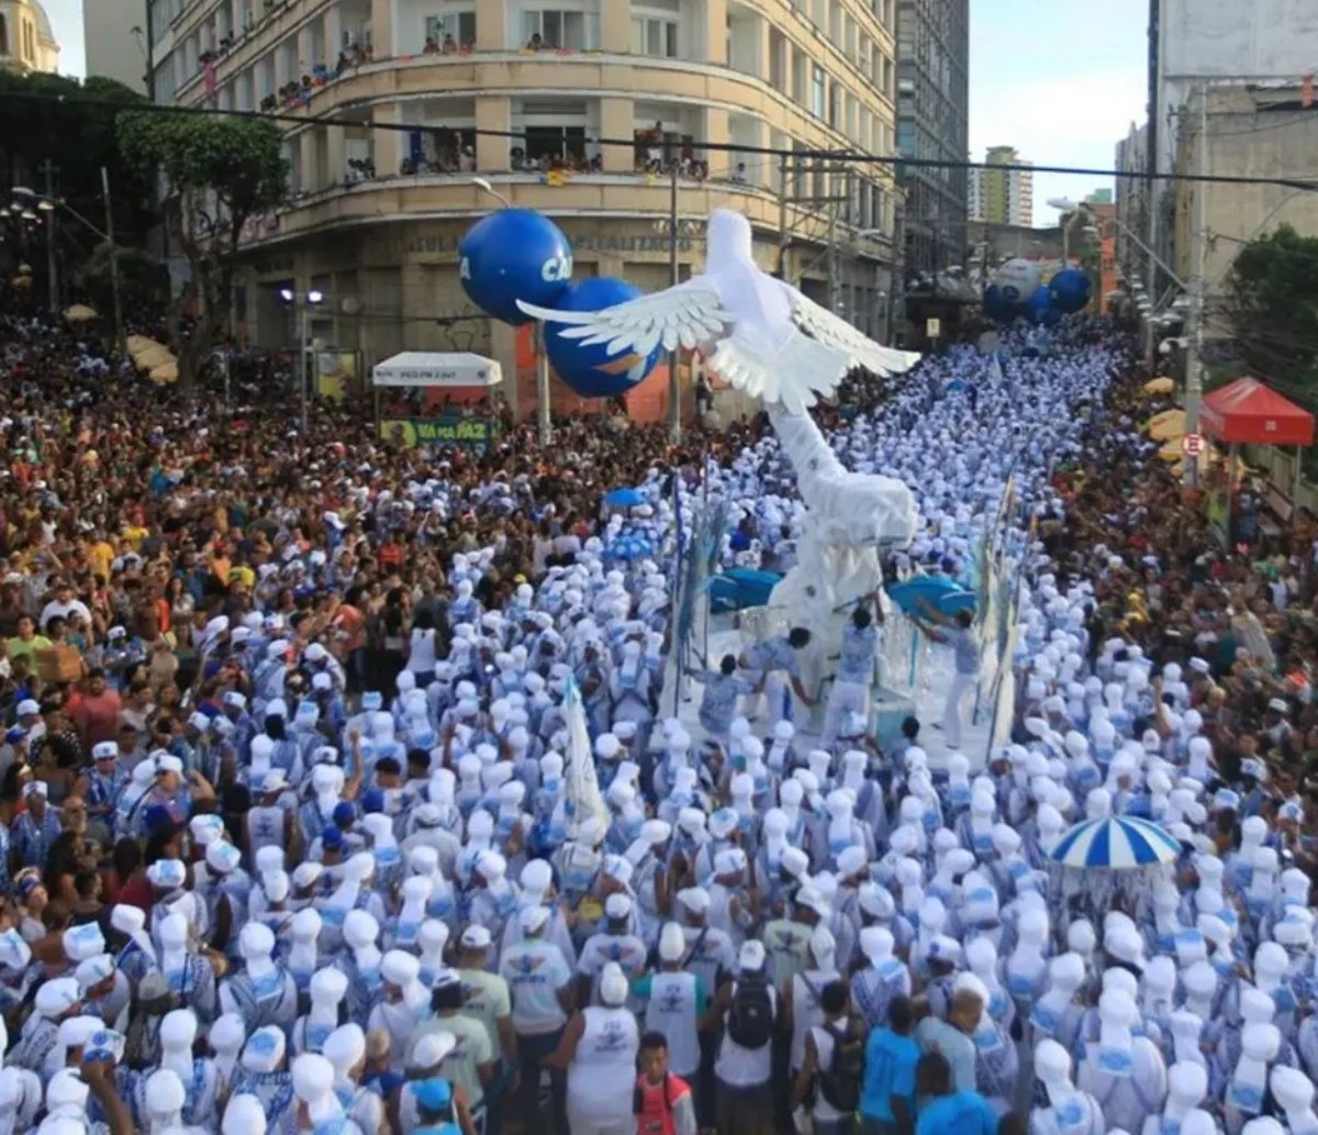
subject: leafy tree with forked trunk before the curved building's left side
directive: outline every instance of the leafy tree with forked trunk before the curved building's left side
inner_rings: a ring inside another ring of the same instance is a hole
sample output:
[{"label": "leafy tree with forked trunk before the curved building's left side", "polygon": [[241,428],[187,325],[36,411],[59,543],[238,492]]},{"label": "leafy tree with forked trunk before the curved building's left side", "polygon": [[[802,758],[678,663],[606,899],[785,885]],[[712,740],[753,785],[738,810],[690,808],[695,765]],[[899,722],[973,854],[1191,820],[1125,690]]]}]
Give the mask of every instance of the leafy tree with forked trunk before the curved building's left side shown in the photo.
[{"label": "leafy tree with forked trunk before the curved building's left side", "polygon": [[132,113],[119,120],[119,144],[130,165],[159,177],[170,239],[188,264],[169,328],[179,385],[191,392],[229,320],[243,231],[287,191],[282,134],[261,119]]}]

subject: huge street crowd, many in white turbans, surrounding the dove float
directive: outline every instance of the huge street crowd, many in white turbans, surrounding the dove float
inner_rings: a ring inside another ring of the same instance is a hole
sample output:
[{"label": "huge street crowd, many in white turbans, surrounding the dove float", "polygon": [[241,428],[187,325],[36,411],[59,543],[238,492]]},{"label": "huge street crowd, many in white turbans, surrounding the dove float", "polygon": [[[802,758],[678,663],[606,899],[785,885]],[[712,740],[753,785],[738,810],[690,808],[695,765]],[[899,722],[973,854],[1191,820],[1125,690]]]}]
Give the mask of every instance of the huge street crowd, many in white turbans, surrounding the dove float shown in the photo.
[{"label": "huge street crowd, many in white turbans, surrounding the dove float", "polygon": [[[915,492],[895,573],[965,577],[1019,502],[971,751],[933,610],[945,712],[875,738],[880,593],[667,716],[679,510],[792,562],[763,422],[303,436],[0,316],[0,1131],[1318,1130],[1313,534],[1217,548],[1139,377],[1073,320],[817,413]],[[1174,862],[1050,863],[1104,816]]]}]

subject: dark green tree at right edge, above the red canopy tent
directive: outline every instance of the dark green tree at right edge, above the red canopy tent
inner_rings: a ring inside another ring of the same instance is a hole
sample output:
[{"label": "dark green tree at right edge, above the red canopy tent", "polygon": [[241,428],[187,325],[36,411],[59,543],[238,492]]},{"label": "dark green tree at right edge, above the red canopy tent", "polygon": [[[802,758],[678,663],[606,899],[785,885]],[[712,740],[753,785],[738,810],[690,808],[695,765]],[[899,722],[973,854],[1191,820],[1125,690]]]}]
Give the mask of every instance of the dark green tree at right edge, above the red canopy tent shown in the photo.
[{"label": "dark green tree at right edge, above the red canopy tent", "polygon": [[1260,377],[1309,381],[1318,359],[1318,237],[1284,224],[1249,241],[1227,277],[1227,311]]}]

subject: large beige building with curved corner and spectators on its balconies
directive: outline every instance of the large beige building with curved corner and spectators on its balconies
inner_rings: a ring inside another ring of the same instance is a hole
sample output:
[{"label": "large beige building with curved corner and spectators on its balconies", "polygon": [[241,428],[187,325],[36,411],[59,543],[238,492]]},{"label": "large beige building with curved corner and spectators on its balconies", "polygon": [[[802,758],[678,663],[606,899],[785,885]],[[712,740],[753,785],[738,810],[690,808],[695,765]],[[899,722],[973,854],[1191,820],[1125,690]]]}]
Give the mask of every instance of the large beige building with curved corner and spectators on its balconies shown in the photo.
[{"label": "large beige building with curved corner and spectators on its balconies", "polygon": [[[515,373],[509,328],[476,318],[457,243],[497,208],[542,210],[576,274],[670,279],[670,160],[681,274],[704,218],[743,211],[757,254],[876,336],[898,211],[894,0],[153,0],[157,99],[289,120],[294,200],[250,227],[236,315],[294,340],[277,290],[319,289],[324,344],[370,364],[474,349]],[[602,141],[601,141],[602,140]],[[786,178],[784,178],[786,165]]]}]

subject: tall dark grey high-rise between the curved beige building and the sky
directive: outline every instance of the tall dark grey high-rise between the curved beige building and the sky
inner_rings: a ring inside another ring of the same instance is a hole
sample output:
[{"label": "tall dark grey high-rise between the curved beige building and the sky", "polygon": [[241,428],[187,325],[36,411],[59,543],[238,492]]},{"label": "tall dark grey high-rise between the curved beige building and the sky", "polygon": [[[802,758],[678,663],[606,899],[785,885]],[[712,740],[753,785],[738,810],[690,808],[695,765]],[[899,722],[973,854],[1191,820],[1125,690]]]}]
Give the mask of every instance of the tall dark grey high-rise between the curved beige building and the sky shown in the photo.
[{"label": "tall dark grey high-rise between the curved beige building and the sky", "polygon": [[[898,153],[963,162],[969,145],[970,0],[898,0]],[[963,167],[905,166],[907,273],[961,264]]]}]

